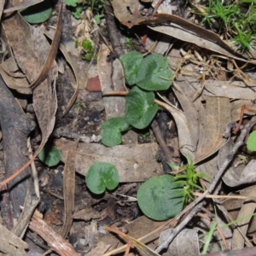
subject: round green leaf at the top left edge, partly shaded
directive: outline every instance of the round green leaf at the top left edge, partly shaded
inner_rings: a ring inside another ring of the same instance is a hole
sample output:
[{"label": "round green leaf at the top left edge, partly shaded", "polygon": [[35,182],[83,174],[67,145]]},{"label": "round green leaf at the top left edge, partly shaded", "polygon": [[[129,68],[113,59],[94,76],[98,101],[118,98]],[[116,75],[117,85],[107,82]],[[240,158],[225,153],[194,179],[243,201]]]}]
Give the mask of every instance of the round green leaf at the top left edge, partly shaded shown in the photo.
[{"label": "round green leaf at the top left edge, partly shaded", "polygon": [[23,18],[32,24],[42,23],[49,19],[52,7],[49,0],[44,0],[41,3],[32,5],[31,7],[24,9],[20,12]]}]

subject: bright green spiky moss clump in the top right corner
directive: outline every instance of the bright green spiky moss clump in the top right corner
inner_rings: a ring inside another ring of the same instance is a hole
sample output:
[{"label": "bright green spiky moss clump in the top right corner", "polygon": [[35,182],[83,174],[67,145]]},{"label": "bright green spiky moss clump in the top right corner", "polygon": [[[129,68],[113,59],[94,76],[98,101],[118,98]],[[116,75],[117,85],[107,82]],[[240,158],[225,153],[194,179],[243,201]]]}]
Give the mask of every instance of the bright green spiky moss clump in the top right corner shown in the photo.
[{"label": "bright green spiky moss clump in the top right corner", "polygon": [[203,13],[195,11],[202,17],[201,24],[230,39],[241,52],[252,49],[256,38],[256,5],[254,0],[241,1],[207,1]]}]

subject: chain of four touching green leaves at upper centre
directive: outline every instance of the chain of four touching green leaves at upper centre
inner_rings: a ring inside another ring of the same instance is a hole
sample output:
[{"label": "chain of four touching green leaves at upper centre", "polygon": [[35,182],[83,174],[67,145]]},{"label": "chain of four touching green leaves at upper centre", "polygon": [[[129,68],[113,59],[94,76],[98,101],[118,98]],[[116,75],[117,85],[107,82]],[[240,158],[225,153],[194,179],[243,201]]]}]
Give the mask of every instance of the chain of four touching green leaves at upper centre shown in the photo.
[{"label": "chain of four touching green leaves at upper centre", "polygon": [[141,53],[131,51],[122,55],[120,62],[124,68],[126,84],[137,86],[133,86],[125,96],[126,126],[118,125],[114,128],[109,125],[111,119],[107,121],[108,125],[102,125],[102,143],[108,147],[121,143],[120,132],[126,131],[129,125],[137,129],[146,128],[158,111],[154,90],[167,90],[172,84],[172,72],[162,55],[152,54],[143,58]]}]

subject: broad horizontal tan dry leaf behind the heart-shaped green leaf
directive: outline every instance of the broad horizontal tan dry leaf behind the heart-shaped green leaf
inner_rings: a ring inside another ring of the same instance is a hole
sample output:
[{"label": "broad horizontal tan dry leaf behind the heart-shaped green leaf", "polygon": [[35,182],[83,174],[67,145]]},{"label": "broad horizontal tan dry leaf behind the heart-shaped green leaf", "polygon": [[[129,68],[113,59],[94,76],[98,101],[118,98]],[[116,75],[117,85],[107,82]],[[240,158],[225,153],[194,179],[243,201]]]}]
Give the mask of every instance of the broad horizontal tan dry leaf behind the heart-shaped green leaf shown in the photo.
[{"label": "broad horizontal tan dry leaf behind the heart-shaped green leaf", "polygon": [[[64,139],[55,140],[55,146],[61,150],[61,160],[65,163],[71,143]],[[102,161],[116,166],[121,183],[146,181],[149,177],[162,174],[162,168],[155,160],[157,149],[157,143],[119,145],[113,148],[94,143],[79,143],[75,171],[85,176],[92,164]]]}]

